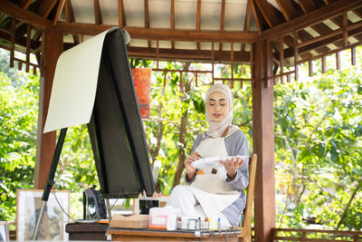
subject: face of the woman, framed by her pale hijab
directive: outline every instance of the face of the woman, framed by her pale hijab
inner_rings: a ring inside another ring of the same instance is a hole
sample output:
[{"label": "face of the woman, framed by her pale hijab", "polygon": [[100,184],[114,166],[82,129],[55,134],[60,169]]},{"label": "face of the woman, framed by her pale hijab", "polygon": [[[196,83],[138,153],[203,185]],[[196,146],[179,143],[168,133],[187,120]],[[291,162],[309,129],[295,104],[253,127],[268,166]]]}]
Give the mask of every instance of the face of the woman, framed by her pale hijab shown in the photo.
[{"label": "face of the woman, framed by her pale hijab", "polygon": [[206,111],[212,121],[223,121],[229,113],[229,102],[223,92],[213,92],[206,101]]}]

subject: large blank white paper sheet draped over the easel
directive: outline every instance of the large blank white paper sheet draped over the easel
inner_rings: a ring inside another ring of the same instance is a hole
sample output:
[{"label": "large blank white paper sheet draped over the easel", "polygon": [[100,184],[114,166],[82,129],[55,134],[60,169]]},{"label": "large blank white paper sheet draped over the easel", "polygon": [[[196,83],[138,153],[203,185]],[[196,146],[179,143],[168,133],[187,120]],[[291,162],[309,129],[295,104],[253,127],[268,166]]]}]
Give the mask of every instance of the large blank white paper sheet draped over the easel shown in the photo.
[{"label": "large blank white paper sheet draped over the easel", "polygon": [[113,29],[74,46],[59,57],[44,132],[90,122],[104,37]]}]

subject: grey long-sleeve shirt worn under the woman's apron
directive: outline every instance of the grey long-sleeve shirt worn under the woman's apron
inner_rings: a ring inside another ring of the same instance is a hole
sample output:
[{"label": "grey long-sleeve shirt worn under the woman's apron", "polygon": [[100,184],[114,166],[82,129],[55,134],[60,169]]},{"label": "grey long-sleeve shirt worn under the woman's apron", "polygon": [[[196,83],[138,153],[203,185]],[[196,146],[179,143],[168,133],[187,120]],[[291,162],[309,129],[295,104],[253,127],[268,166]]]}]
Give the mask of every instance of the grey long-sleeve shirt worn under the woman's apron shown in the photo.
[{"label": "grey long-sleeve shirt worn under the woman's apron", "polygon": [[[197,146],[203,140],[209,138],[211,137],[208,136],[205,132],[197,135],[192,147],[192,152],[195,151]],[[248,157],[248,159],[245,160],[245,162],[243,163],[243,166],[237,169],[235,179],[229,179],[229,178],[225,179],[226,183],[230,184],[233,187],[233,189],[237,189],[240,192],[240,197],[237,198],[230,206],[224,208],[222,213],[226,218],[229,219],[230,224],[233,227],[238,227],[239,222],[243,215],[243,208],[245,207],[246,203],[246,196],[245,193],[243,192],[243,189],[246,189],[246,187],[249,184],[249,170],[248,170],[249,143],[243,131],[239,130],[239,131],[234,131],[229,136],[226,136],[225,147],[227,154],[229,156],[243,155]],[[191,184],[195,180],[195,177],[191,180],[188,180],[187,177],[185,177],[185,180],[187,184]]]}]

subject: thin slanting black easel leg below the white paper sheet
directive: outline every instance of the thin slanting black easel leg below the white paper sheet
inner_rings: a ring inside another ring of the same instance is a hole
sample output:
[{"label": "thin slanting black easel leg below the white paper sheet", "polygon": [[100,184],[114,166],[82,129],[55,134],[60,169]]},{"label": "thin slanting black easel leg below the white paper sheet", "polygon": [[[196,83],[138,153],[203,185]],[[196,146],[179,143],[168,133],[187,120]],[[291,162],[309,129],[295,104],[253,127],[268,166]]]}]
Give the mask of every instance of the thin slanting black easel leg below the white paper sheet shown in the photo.
[{"label": "thin slanting black easel leg below the white paper sheet", "polygon": [[38,220],[36,221],[36,227],[35,227],[35,230],[34,230],[34,233],[33,233],[32,240],[35,240],[35,238],[37,236],[37,233],[38,233],[39,226],[40,226],[40,224],[42,223],[42,220],[43,220],[44,208],[45,208],[46,202],[49,199],[49,194],[51,193],[52,186],[54,185],[55,171],[56,171],[56,169],[58,167],[59,159],[61,157],[62,145],[64,144],[64,139],[65,139],[65,135],[67,133],[67,129],[68,128],[63,128],[61,130],[61,133],[59,135],[58,142],[57,142],[57,145],[56,145],[56,148],[55,148],[55,151],[54,151],[54,155],[52,157],[51,168],[49,169],[48,179],[46,180],[45,189],[43,190],[42,208],[40,210]]}]

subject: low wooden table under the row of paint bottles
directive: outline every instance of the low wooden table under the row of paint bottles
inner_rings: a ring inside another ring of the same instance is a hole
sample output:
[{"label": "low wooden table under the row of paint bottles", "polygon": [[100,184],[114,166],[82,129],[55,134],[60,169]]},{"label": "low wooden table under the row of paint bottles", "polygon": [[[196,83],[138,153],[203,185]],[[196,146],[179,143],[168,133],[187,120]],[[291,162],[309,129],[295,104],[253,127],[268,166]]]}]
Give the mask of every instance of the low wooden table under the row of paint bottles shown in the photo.
[{"label": "low wooden table under the row of paint bottles", "polygon": [[109,227],[107,235],[119,241],[238,241],[238,229],[175,230]]}]

